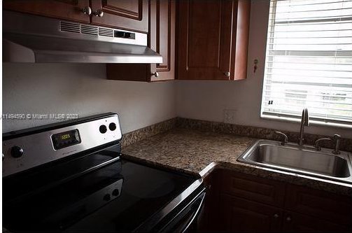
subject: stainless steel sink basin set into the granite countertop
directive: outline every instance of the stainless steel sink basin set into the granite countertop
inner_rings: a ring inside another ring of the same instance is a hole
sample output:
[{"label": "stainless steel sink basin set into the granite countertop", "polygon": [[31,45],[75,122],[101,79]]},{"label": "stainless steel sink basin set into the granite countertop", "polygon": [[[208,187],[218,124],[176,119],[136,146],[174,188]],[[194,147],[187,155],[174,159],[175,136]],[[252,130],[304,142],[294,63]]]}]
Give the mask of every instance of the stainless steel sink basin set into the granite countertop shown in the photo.
[{"label": "stainless steel sink basin set into the granite countertop", "polygon": [[281,146],[279,141],[259,140],[238,161],[351,184],[351,158],[351,153],[344,151],[334,155],[332,149],[316,151],[313,146]]}]

